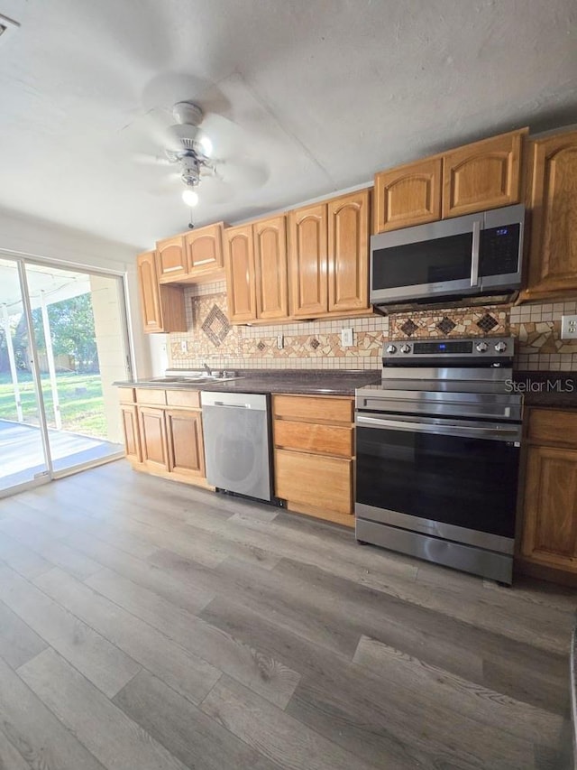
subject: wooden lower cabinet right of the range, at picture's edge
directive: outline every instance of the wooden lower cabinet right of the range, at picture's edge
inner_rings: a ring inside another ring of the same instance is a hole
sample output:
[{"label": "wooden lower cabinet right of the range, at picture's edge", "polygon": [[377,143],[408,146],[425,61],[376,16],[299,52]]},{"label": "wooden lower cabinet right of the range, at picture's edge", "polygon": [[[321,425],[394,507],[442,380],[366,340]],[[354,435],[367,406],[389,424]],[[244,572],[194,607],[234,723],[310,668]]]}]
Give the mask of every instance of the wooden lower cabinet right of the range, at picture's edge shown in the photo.
[{"label": "wooden lower cabinet right of the range, at picture's edge", "polygon": [[527,441],[521,558],[577,576],[577,413],[531,409]]}]

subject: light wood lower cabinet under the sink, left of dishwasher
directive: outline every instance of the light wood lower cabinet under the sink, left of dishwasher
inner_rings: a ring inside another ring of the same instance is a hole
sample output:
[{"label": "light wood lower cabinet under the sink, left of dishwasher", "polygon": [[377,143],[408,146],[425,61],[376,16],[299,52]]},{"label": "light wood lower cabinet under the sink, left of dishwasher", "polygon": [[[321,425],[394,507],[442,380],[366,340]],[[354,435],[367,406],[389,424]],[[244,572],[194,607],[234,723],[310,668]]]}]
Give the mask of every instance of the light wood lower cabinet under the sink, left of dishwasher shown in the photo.
[{"label": "light wood lower cabinet under the sink, left of dishwasher", "polygon": [[207,486],[198,391],[122,388],[120,401],[126,458],[133,468]]}]

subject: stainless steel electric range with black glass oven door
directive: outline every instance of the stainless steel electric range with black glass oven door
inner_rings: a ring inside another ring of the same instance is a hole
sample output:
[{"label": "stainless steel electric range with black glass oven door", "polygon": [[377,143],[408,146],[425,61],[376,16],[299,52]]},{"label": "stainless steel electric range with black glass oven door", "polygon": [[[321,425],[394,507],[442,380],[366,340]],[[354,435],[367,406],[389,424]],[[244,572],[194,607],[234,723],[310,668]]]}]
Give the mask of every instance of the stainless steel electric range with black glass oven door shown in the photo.
[{"label": "stainless steel electric range with black glass oven door", "polygon": [[356,537],[510,584],[522,396],[514,340],[388,343],[356,391]]}]

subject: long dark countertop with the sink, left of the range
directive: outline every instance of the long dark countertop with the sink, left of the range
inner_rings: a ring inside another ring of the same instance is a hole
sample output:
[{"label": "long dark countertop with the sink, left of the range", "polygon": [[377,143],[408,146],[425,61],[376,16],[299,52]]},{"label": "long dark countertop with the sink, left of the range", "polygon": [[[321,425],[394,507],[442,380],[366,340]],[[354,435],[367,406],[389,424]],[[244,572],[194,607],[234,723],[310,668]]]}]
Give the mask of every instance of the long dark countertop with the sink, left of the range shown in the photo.
[{"label": "long dark countertop with the sink, left of the range", "polygon": [[208,390],[220,393],[294,393],[354,395],[363,385],[380,383],[380,369],[244,369],[228,382],[179,383],[162,380],[127,380],[119,387],[157,387],[164,390]]}]

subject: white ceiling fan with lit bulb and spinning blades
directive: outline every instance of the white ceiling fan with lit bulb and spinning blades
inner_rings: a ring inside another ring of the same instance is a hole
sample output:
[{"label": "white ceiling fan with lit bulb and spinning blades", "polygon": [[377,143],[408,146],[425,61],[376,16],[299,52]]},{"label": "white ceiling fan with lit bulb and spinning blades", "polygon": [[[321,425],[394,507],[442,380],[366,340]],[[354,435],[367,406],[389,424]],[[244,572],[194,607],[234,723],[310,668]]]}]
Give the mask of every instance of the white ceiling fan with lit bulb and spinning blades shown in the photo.
[{"label": "white ceiling fan with lit bulb and spinning blades", "polygon": [[[236,191],[259,187],[268,178],[266,167],[261,162],[233,161],[213,157],[213,141],[224,153],[240,153],[238,140],[240,129],[222,116],[205,116],[195,102],[177,102],[171,111],[173,123],[162,125],[160,135],[155,132],[162,145],[160,156],[138,155],[141,162],[169,165],[176,169],[171,180],[184,184],[182,199],[190,206],[196,206],[200,197],[210,202],[222,202]],[[240,132],[242,133],[242,132]]]}]

